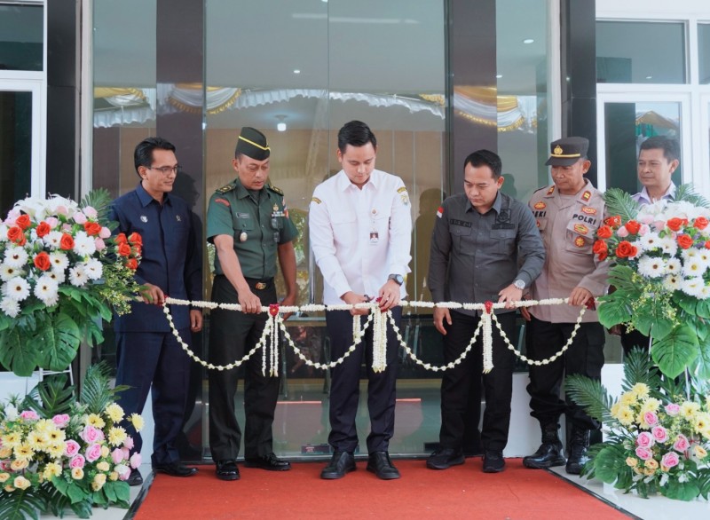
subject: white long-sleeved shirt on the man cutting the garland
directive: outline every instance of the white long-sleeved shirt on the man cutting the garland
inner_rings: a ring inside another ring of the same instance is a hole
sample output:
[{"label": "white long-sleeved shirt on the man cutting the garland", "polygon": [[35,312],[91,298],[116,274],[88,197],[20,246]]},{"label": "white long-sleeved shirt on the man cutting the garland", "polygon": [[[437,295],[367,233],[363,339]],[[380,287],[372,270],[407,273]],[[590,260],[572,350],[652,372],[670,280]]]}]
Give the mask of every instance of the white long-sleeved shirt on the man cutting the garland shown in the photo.
[{"label": "white long-sleeved shirt on the man cutting the garland", "polygon": [[390,274],[410,271],[412,214],[399,177],[375,169],[359,189],[341,170],[316,187],[308,224],[326,305],[348,291],[376,297]]}]

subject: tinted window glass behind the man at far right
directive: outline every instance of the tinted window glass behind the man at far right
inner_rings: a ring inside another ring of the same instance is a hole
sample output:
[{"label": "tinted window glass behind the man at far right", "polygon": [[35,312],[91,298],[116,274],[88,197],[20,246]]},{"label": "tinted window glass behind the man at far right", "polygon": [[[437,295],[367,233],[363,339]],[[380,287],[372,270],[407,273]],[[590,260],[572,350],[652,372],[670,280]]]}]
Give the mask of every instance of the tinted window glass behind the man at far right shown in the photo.
[{"label": "tinted window glass behind the man at far right", "polygon": [[[666,136],[681,140],[680,103],[606,103],[606,187],[638,193],[636,175],[639,146],[647,138]],[[682,161],[673,173],[675,185],[682,182]]]}]

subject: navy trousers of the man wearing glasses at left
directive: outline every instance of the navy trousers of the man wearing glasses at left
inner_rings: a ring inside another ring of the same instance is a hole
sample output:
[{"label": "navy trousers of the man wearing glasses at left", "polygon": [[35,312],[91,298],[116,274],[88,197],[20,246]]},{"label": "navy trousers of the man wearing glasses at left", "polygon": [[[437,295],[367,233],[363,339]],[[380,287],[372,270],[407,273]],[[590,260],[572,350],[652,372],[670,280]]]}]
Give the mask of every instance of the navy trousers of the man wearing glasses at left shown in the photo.
[{"label": "navy trousers of the man wearing glasses at left", "polygon": [[[178,331],[188,345],[190,329]],[[153,455],[154,464],[177,462],[176,439],[183,425],[190,378],[190,358],[172,332],[117,332],[116,386],[127,385],[118,394],[118,403],[128,417],[142,414],[150,391],[153,398]],[[140,453],[143,438],[129,422],[122,426],[133,437],[131,452]]]}]

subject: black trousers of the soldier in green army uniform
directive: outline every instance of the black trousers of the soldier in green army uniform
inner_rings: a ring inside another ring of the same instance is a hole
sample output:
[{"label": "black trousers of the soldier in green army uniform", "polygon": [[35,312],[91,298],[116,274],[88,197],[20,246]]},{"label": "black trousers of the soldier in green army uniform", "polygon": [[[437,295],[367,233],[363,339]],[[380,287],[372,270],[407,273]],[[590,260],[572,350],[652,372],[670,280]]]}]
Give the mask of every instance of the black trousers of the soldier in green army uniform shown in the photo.
[{"label": "black trousers of the soldier in green army uniform", "polygon": [[[249,280],[248,280],[249,281]],[[262,305],[276,303],[273,280],[264,289],[251,290]],[[212,301],[238,303],[237,291],[225,276],[216,276]],[[209,324],[209,362],[227,365],[241,359],[254,348],[266,325],[264,312],[245,314],[239,311],[211,311]],[[267,343],[269,344],[269,343]],[[279,398],[280,376],[262,374],[262,352],[256,351],[242,366],[244,371],[244,457],[256,459],[273,451],[272,424]],[[268,366],[267,366],[268,370]],[[209,370],[209,448],[215,461],[236,459],[241,443],[241,429],[235,414],[237,368]]]}]

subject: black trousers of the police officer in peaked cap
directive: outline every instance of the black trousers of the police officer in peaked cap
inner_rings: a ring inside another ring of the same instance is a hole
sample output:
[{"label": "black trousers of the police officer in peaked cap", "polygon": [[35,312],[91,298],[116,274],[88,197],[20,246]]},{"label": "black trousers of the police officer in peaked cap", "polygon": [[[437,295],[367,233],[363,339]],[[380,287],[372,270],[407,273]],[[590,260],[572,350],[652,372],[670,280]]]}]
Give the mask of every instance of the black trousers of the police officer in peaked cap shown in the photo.
[{"label": "black trousers of the police officer in peaked cap", "polygon": [[[572,335],[573,323],[550,323],[534,316],[527,326],[527,356],[544,359],[559,351]],[[598,322],[582,323],[572,345],[561,358],[543,366],[530,366],[530,413],[540,424],[556,423],[565,414],[567,421],[582,429],[597,429],[595,421],[569,398],[562,400],[564,374],[582,374],[599,380],[604,366],[604,327]]]}]

